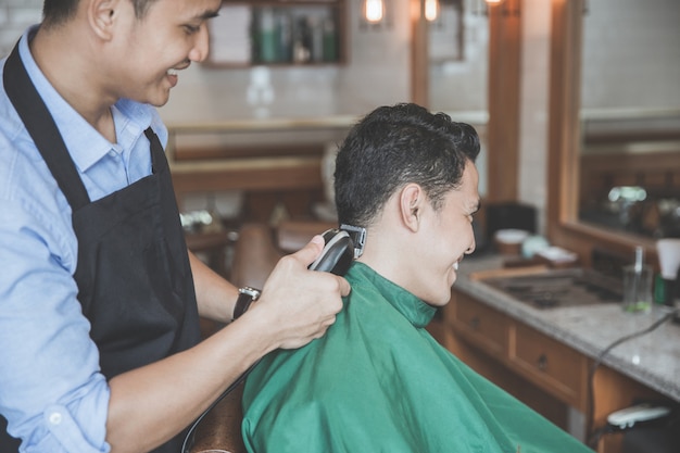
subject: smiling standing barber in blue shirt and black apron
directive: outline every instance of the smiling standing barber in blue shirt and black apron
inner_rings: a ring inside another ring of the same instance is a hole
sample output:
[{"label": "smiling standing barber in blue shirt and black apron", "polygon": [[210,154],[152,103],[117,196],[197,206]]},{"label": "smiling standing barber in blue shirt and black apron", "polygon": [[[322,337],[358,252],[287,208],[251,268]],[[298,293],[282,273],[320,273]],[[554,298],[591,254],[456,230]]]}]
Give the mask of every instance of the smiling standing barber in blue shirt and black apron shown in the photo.
[{"label": "smiling standing barber in blue shirt and black apron", "polygon": [[[205,58],[219,7],[45,0],[0,61],[0,414],[22,452],[177,453],[231,382],[323,336],[350,291],[306,269],[316,237],[244,311],[250,295],[186,249],[154,106]],[[201,341],[199,316],[229,324]]]}]

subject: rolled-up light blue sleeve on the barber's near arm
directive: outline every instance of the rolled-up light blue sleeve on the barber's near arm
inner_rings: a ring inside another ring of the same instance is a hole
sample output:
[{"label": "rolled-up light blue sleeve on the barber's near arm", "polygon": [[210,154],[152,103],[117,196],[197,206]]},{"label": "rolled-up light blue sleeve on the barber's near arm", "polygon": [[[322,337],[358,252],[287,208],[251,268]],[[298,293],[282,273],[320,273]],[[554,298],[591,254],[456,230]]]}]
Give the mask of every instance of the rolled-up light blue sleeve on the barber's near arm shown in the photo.
[{"label": "rolled-up light blue sleeve on the barber's near arm", "polygon": [[72,277],[75,238],[37,207],[0,211],[0,263],[12,263],[0,273],[0,413],[23,452],[105,453],[110,389]]}]

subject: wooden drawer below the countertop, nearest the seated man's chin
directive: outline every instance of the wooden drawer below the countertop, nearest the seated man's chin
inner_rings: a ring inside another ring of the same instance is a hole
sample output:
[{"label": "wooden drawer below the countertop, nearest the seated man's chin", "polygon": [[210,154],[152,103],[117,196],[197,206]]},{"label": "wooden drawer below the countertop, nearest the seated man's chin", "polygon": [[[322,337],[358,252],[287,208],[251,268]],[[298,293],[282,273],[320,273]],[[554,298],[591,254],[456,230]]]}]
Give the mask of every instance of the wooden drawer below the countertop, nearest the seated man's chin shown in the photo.
[{"label": "wooden drawer below the countertop, nearest the seated man's chin", "polygon": [[449,320],[461,337],[492,355],[507,356],[509,323],[505,315],[462,293],[455,294],[451,315]]}]

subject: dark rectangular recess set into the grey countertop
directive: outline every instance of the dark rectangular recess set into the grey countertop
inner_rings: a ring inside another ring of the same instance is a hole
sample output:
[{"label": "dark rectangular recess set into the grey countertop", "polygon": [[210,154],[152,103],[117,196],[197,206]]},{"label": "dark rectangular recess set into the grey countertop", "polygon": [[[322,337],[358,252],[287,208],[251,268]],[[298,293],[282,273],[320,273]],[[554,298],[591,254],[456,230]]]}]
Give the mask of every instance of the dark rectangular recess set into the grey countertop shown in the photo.
[{"label": "dark rectangular recess set into the grey countertop", "polygon": [[621,303],[622,282],[588,268],[488,277],[480,281],[537,309]]}]

